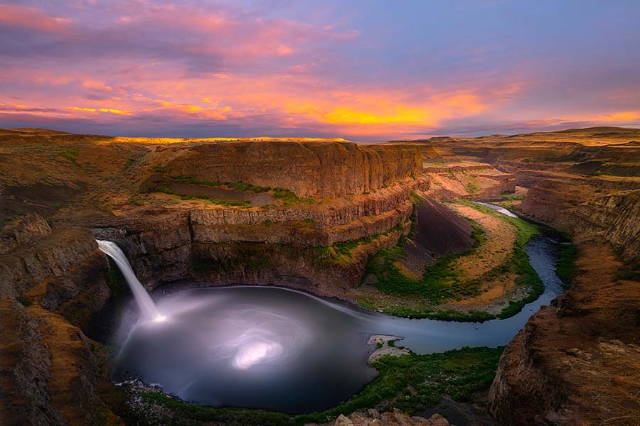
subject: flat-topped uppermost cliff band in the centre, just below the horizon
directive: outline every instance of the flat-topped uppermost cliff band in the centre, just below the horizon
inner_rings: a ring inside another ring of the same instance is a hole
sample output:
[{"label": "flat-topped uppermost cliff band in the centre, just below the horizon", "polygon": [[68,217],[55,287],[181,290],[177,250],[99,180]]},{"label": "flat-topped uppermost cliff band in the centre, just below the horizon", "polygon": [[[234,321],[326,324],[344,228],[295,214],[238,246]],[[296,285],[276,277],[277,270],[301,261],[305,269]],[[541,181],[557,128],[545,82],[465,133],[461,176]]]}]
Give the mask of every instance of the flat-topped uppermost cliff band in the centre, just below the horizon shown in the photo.
[{"label": "flat-topped uppermost cliff band in the centre, just below the horizon", "polygon": [[264,141],[160,149],[171,175],[284,187],[299,197],[362,194],[422,171],[420,149],[402,145]]}]

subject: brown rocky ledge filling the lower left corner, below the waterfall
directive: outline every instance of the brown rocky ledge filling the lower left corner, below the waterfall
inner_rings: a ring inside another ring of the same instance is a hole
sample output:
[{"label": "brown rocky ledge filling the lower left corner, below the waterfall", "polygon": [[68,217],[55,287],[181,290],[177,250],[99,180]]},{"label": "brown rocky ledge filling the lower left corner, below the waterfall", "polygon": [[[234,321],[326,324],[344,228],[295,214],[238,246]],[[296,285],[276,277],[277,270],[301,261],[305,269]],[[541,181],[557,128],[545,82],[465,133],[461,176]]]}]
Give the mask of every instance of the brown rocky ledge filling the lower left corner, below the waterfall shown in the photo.
[{"label": "brown rocky ledge filling the lower left corner, below the waterfall", "polygon": [[95,425],[97,360],[90,342],[41,307],[0,302],[0,413],[7,425]]}]

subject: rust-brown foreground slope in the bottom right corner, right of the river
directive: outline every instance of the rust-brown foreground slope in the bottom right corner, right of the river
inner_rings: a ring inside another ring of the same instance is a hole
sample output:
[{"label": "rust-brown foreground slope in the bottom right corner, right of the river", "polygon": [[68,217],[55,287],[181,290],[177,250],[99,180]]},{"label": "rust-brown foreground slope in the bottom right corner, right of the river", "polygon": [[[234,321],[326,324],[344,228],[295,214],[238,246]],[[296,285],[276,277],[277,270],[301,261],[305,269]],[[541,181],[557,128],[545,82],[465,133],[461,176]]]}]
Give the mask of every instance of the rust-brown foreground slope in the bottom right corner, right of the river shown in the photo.
[{"label": "rust-brown foreground slope in the bottom right corner, right of the river", "polygon": [[575,285],[508,344],[491,386],[506,425],[635,425],[640,421],[640,283],[617,279],[609,246],[577,241]]}]

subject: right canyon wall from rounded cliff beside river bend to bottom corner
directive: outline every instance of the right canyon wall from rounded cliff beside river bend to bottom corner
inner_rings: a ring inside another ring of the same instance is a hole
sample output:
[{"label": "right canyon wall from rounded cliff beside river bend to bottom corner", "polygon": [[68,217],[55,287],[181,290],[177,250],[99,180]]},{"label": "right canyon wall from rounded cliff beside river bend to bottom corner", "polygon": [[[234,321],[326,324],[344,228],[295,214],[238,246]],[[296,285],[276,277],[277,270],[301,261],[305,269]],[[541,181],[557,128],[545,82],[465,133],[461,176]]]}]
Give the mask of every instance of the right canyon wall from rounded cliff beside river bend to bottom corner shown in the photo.
[{"label": "right canyon wall from rounded cliff beside river bend to bottom corner", "polygon": [[547,176],[521,210],[575,236],[577,278],[506,347],[491,411],[506,425],[636,424],[640,373],[628,372],[640,362],[640,283],[619,275],[614,249],[640,261],[639,184]]}]

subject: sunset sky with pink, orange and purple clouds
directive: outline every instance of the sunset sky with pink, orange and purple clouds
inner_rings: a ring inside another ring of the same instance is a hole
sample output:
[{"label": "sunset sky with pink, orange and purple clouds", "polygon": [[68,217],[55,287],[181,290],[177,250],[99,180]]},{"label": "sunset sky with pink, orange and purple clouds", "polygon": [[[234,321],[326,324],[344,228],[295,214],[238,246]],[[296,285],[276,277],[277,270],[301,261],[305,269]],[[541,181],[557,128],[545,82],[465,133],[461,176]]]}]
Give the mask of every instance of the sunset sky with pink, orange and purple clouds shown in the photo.
[{"label": "sunset sky with pink, orange and purple clouds", "polygon": [[0,127],[354,141],[640,127],[637,0],[0,0]]}]

